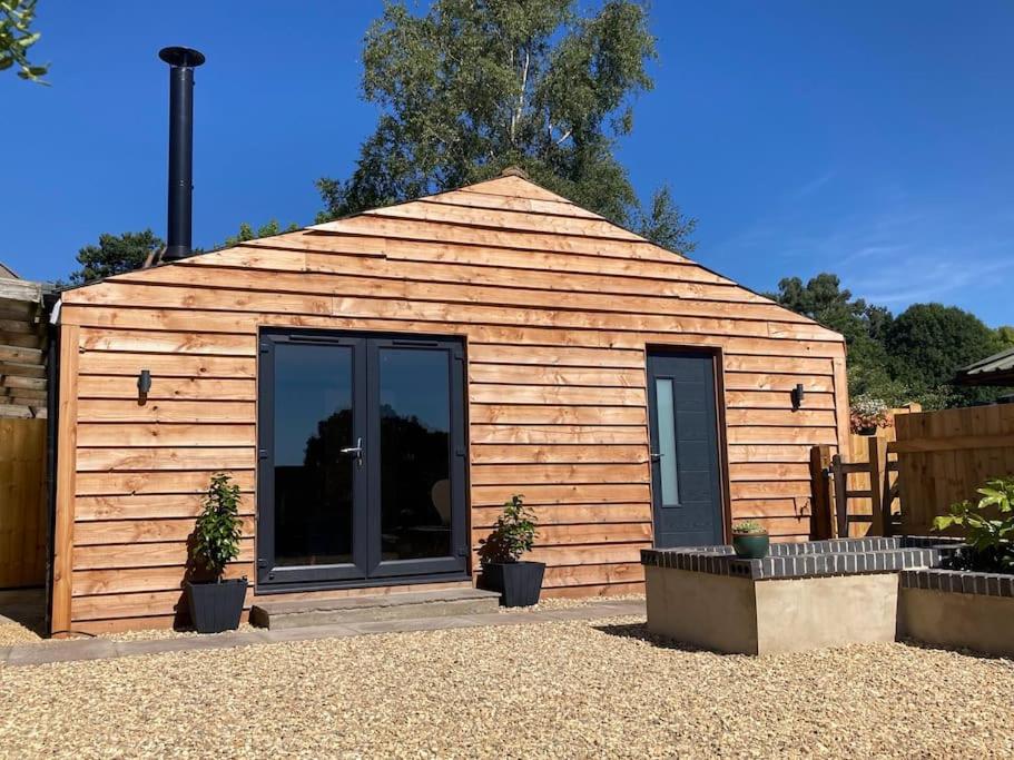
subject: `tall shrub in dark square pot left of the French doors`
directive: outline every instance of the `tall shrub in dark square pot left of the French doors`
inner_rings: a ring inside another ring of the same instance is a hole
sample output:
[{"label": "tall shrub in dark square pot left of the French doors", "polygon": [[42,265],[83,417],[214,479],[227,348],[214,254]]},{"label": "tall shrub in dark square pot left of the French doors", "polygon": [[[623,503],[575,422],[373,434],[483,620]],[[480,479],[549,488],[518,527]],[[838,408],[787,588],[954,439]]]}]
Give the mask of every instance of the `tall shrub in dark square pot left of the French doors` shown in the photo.
[{"label": "tall shrub in dark square pot left of the French doors", "polygon": [[239,625],[246,578],[221,578],[226,564],[239,556],[239,486],[226,473],[215,473],[190,543],[195,567],[203,567],[213,580],[186,583],[190,620],[200,633],[220,633]]}]

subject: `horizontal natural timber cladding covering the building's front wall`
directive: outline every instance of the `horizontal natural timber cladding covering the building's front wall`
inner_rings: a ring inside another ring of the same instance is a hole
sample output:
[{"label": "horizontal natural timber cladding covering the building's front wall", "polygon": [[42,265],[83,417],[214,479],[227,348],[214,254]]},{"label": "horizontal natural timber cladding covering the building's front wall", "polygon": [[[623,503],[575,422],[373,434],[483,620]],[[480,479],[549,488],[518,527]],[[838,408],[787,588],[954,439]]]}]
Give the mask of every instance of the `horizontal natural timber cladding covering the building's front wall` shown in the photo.
[{"label": "horizontal natural timber cladding covering the building's front wall", "polygon": [[[72,623],[82,630],[171,623],[216,470],[244,493],[229,573],[255,575],[262,327],[464,338],[473,550],[523,493],[541,522],[533,559],[549,565],[550,596],[643,582],[649,347],[719,352],[732,515],[778,536],[808,532],[809,446],[837,445],[846,422],[839,336],[516,178],[69,290],[62,324],[80,340]],[[142,368],[152,383],[139,401]]]}]

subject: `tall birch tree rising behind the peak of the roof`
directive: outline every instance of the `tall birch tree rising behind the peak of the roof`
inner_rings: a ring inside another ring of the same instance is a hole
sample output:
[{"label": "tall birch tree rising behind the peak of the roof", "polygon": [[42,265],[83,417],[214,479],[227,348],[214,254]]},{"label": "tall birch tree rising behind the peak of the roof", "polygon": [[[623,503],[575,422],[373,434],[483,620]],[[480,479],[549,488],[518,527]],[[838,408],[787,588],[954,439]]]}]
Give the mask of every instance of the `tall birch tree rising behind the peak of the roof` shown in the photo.
[{"label": "tall birch tree rising behind the peak of the roof", "polygon": [[613,147],[652,88],[648,12],[607,0],[442,0],[425,16],[387,2],[366,32],[363,97],[382,109],[347,180],[322,178],[319,221],[496,176],[540,185],[653,237],[692,248],[669,191],[643,211]]}]

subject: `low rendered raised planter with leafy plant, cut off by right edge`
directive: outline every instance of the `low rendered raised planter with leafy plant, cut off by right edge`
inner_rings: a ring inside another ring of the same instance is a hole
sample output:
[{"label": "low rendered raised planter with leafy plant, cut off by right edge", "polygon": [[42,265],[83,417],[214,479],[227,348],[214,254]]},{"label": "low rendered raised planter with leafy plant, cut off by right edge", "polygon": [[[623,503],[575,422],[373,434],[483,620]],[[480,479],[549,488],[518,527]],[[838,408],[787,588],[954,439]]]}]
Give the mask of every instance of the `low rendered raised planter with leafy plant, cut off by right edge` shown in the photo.
[{"label": "low rendered raised planter with leafy plant, cut off by right edge", "polygon": [[900,576],[898,635],[1014,657],[1014,575],[906,570]]}]

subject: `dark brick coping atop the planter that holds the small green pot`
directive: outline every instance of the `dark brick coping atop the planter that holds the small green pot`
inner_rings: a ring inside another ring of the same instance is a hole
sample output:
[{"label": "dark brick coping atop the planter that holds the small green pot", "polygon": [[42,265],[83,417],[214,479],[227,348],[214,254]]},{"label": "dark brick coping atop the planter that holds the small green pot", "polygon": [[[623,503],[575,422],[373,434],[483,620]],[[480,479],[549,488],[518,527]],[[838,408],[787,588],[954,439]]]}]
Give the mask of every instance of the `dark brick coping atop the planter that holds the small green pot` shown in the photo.
[{"label": "dark brick coping atop the planter that holds the small green pot", "polygon": [[765,581],[936,567],[965,549],[959,540],[936,536],[835,539],[771,544],[762,560],[739,559],[731,546],[643,549],[641,564]]}]

